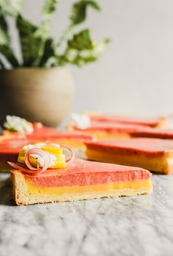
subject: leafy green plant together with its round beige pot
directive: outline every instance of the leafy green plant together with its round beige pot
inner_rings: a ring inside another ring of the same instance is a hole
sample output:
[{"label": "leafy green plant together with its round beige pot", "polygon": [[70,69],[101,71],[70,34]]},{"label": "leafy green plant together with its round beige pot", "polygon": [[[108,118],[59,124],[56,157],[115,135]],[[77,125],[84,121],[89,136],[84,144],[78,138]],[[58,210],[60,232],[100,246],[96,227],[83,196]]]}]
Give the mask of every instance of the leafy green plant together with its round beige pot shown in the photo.
[{"label": "leafy green plant together with its round beige pot", "polygon": [[[100,11],[94,0],[73,4],[69,26],[56,42],[49,30],[58,2],[45,1],[42,22],[37,26],[23,17],[22,0],[0,0],[1,122],[7,114],[15,114],[46,125],[57,125],[69,114],[73,103],[73,77],[65,66],[82,67],[95,62],[108,43],[107,39],[95,43],[89,29],[76,32],[76,27],[86,20],[88,8]],[[11,47],[8,16],[15,21],[21,59]]]}]

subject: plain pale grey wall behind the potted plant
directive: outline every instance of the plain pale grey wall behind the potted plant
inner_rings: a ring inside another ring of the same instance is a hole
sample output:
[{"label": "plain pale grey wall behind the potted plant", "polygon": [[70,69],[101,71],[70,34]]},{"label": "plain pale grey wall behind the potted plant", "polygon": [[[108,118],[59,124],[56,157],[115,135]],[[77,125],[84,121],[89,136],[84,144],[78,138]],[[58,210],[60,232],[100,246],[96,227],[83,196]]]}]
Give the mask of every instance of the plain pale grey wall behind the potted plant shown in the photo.
[{"label": "plain pale grey wall behind the potted plant", "polygon": [[[102,109],[118,114],[173,112],[173,1],[98,1],[102,12],[89,10],[87,24],[95,40],[110,37],[100,59],[71,67],[76,81],[73,111]],[[24,0],[23,14],[40,22],[43,0]],[[60,1],[51,35],[59,37],[69,19],[72,0]],[[11,26],[13,26],[11,24]],[[17,37],[11,29],[19,54]]]}]

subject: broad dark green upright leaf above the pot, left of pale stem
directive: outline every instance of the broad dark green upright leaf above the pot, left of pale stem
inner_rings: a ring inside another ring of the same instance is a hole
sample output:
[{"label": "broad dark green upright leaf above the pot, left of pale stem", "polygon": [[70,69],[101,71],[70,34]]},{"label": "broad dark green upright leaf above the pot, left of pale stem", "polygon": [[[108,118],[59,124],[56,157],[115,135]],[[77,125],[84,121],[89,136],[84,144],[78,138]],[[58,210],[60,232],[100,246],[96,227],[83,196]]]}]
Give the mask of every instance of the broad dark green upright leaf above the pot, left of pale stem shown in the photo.
[{"label": "broad dark green upright leaf above the pot, left of pale stem", "polygon": [[40,44],[42,42],[42,37],[37,34],[38,27],[21,15],[18,15],[17,27],[21,40],[23,66],[34,66],[35,60],[39,57]]}]

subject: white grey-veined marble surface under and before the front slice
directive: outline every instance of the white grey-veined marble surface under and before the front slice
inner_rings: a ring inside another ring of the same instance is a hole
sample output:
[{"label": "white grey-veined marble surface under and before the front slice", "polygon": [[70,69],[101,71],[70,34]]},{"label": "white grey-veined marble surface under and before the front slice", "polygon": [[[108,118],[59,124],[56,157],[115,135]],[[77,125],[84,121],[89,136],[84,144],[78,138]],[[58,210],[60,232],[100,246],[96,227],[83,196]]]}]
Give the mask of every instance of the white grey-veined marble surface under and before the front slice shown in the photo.
[{"label": "white grey-veined marble surface under and before the front slice", "polygon": [[19,207],[0,175],[0,256],[173,255],[173,175],[151,196]]}]

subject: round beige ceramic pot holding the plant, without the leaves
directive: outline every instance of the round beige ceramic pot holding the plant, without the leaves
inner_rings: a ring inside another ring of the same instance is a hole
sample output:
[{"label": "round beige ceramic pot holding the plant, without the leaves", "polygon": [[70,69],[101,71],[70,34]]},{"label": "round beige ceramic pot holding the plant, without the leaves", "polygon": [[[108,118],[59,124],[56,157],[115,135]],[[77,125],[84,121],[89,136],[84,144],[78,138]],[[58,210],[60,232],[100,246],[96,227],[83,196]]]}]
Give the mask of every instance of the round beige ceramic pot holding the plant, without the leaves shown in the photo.
[{"label": "round beige ceramic pot holding the plant, without the leaves", "polygon": [[73,99],[73,76],[65,67],[0,70],[1,122],[10,114],[56,126],[70,113]]}]

